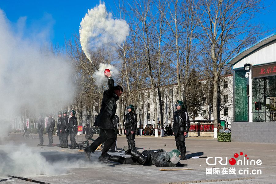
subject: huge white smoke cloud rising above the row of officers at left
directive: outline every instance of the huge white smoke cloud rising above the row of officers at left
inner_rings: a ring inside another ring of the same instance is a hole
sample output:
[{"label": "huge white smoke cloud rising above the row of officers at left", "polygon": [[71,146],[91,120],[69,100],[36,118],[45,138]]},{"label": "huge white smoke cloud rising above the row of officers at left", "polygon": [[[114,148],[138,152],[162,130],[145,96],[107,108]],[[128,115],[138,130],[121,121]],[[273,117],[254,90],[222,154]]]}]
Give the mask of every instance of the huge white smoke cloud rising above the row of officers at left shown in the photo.
[{"label": "huge white smoke cloud rising above the row of officers at left", "polygon": [[[26,19],[13,25],[0,9],[0,112],[6,120],[20,115],[22,107],[37,114],[53,112],[70,103],[75,91],[72,62],[52,53],[49,45],[41,46],[49,28],[40,27],[41,33],[33,35],[29,31],[29,37],[22,38],[25,34],[18,29],[27,29]],[[0,135],[5,133],[1,128]]]}]

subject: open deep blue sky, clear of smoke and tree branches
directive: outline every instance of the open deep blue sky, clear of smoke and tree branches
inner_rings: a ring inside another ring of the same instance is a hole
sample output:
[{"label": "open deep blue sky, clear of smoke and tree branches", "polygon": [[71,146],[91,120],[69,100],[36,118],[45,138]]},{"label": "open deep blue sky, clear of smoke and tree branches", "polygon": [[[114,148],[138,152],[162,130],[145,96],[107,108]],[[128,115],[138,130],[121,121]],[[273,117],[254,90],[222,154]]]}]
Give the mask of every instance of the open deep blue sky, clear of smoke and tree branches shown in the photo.
[{"label": "open deep blue sky, clear of smoke and tree branches", "polygon": [[[109,12],[116,13],[118,0],[105,0],[103,2],[105,2]],[[261,23],[263,30],[271,29],[265,35],[268,36],[276,32],[276,2],[275,0],[266,0],[263,3],[266,9],[257,15],[255,22]],[[0,9],[6,13],[12,25],[17,25],[17,28],[18,26],[24,28],[23,36],[31,37],[29,34],[38,34],[41,29],[44,29],[44,36],[49,42],[63,46],[64,37],[69,39],[73,34],[79,34],[82,17],[88,9],[93,8],[96,4],[99,4],[98,0],[0,0]]]}]

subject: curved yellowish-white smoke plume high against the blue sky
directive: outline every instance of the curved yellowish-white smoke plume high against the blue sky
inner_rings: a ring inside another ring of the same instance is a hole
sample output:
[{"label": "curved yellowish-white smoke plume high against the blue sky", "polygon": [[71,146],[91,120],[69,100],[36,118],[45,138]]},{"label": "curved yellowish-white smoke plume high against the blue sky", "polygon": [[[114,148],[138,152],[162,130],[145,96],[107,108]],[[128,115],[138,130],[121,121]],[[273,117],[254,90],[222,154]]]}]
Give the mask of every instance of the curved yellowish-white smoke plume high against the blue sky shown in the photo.
[{"label": "curved yellowish-white smoke plume high against the blue sky", "polygon": [[125,20],[113,19],[105,4],[100,3],[82,18],[79,35],[82,50],[91,61],[91,52],[98,49],[115,52],[129,35],[129,25]]}]

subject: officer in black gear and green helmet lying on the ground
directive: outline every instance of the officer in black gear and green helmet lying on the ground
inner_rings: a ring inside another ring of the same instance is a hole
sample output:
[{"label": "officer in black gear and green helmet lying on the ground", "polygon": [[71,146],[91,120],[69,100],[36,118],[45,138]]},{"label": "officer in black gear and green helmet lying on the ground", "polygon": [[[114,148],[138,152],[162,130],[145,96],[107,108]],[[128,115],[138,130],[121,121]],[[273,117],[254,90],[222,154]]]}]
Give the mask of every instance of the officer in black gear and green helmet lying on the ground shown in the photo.
[{"label": "officer in black gear and green helmet lying on the ground", "polygon": [[137,150],[129,149],[124,146],[123,149],[125,153],[131,155],[132,157],[122,157],[118,155],[108,155],[108,159],[113,162],[119,162],[121,164],[132,164],[132,165],[144,165],[150,166],[155,165],[156,167],[176,167],[184,166],[184,164],[179,163],[181,153],[179,150],[174,149],[167,152],[163,149],[158,151],[144,150],[140,153]]}]

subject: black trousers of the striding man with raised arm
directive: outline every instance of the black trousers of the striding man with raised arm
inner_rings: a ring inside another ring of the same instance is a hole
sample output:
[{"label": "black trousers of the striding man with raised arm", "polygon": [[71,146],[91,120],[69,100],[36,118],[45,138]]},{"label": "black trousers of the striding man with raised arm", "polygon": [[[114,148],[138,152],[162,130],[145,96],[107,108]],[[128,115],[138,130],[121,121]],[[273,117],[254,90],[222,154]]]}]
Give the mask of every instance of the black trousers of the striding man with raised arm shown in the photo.
[{"label": "black trousers of the striding man with raised arm", "polygon": [[102,156],[105,156],[115,140],[116,134],[114,129],[100,128],[100,136],[90,145],[90,149],[94,152],[100,144],[105,142],[105,146],[102,149]]}]

